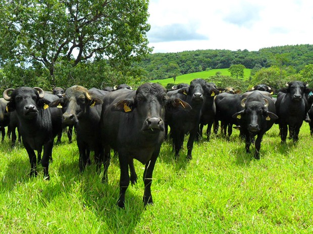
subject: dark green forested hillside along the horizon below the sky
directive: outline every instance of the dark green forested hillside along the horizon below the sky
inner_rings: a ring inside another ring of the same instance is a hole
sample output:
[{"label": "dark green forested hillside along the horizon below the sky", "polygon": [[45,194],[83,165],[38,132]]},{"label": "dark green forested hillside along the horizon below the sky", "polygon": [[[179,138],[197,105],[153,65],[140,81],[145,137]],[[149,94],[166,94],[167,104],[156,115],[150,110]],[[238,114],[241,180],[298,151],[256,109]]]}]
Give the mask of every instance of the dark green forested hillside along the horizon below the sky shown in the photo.
[{"label": "dark green forested hillside along the horizon below the sky", "polygon": [[177,53],[153,53],[138,64],[150,80],[167,79],[180,74],[242,64],[259,70],[262,67],[291,67],[297,73],[313,63],[313,45],[286,45],[248,50],[195,50]]}]

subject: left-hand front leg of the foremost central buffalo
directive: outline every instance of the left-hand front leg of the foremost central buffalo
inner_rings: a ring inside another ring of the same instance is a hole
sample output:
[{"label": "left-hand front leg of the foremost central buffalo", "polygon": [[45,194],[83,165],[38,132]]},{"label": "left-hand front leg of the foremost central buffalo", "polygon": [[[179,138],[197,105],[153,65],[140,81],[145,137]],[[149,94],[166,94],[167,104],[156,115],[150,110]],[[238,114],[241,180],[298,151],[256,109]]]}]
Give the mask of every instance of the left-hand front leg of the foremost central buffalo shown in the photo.
[{"label": "left-hand front leg of the foremost central buffalo", "polygon": [[125,192],[129,185],[129,173],[128,173],[128,162],[127,155],[119,152],[119,161],[120,161],[120,196],[117,202],[118,206],[121,208],[125,208]]}]

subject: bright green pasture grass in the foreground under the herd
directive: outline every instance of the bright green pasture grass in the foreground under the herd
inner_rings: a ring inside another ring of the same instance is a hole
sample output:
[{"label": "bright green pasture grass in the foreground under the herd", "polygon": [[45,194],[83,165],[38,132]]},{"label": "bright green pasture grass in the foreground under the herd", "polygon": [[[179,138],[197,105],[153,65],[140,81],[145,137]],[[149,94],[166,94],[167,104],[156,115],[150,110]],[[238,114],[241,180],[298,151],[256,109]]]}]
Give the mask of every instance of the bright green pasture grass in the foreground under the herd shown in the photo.
[{"label": "bright green pasture grass in the foreground under the herd", "polygon": [[[29,178],[22,145],[0,146],[0,233],[313,233],[313,138],[303,123],[299,141],[281,145],[278,125],[267,132],[260,160],[245,153],[234,130],[230,141],[213,134],[195,143],[186,161],[186,140],[175,161],[164,142],[151,186],[153,205],[143,207],[142,173],[117,207],[119,163],[112,158],[109,183],[95,165],[80,174],[76,141],[66,134],[53,150],[50,181]],[[75,139],[75,138],[74,138]],[[91,154],[93,162],[93,154]]]}]

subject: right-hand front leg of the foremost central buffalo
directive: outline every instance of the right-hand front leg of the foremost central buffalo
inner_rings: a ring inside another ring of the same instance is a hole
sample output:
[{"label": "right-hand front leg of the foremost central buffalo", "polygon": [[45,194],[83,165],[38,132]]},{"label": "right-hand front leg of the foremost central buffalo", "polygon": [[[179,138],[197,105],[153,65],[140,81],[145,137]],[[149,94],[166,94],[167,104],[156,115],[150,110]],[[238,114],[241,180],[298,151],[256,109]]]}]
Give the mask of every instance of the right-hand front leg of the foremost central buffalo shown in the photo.
[{"label": "right-hand front leg of the foremost central buffalo", "polygon": [[143,183],[144,183],[144,193],[143,193],[143,204],[152,204],[152,195],[151,195],[151,184],[152,184],[152,173],[156,159],[158,158],[160,149],[156,152],[153,152],[151,160],[146,163],[144,172],[143,172]]}]

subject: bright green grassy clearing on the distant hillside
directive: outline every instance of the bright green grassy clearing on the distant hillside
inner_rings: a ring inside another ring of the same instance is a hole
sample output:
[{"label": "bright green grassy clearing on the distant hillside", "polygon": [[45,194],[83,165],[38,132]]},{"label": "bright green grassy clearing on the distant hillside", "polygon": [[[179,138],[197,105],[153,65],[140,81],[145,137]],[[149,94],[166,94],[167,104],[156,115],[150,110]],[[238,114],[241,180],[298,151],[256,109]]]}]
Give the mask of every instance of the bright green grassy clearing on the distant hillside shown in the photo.
[{"label": "bright green grassy clearing on the distant hillside", "polygon": [[[194,73],[189,73],[189,74],[183,74],[183,75],[179,75],[176,77],[176,84],[179,83],[187,83],[189,84],[190,81],[192,81],[193,79],[196,78],[208,78],[210,76],[216,75],[216,72],[220,71],[221,75],[229,75],[230,76],[230,72],[228,71],[228,68],[224,68],[224,69],[212,69],[212,70],[208,70],[208,71],[200,71],[200,72],[194,72]],[[244,69],[244,77],[243,80],[248,80],[249,76],[251,73],[251,69],[245,68]],[[168,83],[174,83],[173,78],[169,78],[169,79],[163,79],[163,80],[153,80],[151,82],[158,82],[163,86],[166,86]]]}]

